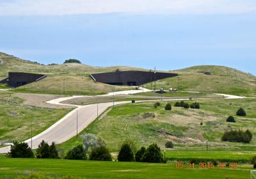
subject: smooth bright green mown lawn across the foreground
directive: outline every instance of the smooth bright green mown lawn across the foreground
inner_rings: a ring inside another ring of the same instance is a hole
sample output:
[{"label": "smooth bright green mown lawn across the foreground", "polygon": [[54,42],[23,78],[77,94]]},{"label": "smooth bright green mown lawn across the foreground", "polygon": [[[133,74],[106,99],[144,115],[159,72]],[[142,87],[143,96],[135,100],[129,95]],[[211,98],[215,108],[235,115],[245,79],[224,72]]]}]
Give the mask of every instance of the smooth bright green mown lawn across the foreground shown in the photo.
[{"label": "smooth bright green mown lawn across the foreground", "polygon": [[252,166],[238,169],[176,169],[175,164],[134,162],[90,162],[49,159],[0,159],[0,178],[15,178],[33,171],[52,176],[72,175],[76,178],[250,178]]}]

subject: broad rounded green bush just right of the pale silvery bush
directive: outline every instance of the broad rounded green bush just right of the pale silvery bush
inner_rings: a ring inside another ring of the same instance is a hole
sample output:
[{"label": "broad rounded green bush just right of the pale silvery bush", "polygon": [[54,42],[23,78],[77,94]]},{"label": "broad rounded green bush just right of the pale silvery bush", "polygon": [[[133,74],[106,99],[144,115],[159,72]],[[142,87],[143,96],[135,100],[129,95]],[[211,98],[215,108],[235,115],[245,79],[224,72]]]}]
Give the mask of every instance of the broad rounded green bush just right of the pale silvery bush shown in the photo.
[{"label": "broad rounded green bush just right of the pale silvery bush", "polygon": [[112,161],[112,157],[106,146],[97,146],[92,148],[92,152],[90,153],[90,160]]}]

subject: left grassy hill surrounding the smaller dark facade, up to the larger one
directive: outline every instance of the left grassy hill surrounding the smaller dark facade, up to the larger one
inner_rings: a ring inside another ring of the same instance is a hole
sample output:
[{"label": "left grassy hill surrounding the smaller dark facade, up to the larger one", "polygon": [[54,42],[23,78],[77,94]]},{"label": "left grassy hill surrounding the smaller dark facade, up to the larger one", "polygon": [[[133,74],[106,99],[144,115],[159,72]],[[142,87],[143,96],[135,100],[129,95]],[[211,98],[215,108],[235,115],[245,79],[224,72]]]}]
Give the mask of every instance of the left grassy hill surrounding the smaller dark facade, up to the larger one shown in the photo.
[{"label": "left grassy hill surrounding the smaller dark facade, up to the larger one", "polygon": [[[56,95],[63,94],[64,81],[65,95],[97,95],[107,93],[113,90],[113,86],[94,82],[89,76],[90,73],[113,72],[116,68],[120,70],[144,70],[128,66],[95,67],[77,63],[40,65],[4,53],[0,53],[0,61],[0,79],[7,77],[8,72],[30,72],[48,75],[42,81],[22,86],[15,89],[15,91]],[[116,91],[123,89],[128,88],[124,86],[115,87]]]}]

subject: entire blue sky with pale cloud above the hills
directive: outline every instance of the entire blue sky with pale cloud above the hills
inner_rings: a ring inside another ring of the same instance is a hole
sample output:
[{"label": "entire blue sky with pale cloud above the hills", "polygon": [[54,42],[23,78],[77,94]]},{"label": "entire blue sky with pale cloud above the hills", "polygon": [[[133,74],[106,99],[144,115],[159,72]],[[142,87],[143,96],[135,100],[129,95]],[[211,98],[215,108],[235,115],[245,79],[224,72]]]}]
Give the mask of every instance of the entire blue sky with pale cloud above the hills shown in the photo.
[{"label": "entire blue sky with pale cloud above the hills", "polygon": [[256,75],[255,0],[0,0],[0,51],[39,63]]}]

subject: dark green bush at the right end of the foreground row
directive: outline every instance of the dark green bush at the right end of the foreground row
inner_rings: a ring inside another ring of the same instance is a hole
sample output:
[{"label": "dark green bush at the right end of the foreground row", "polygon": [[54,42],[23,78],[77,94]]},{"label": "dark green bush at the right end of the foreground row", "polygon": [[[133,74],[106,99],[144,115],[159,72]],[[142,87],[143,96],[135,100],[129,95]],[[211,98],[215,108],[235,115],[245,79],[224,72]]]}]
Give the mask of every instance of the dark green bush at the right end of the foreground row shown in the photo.
[{"label": "dark green bush at the right end of the foreground row", "polygon": [[157,144],[148,146],[146,152],[143,155],[142,161],[149,163],[160,163],[164,161],[163,154],[161,153],[161,150]]}]

